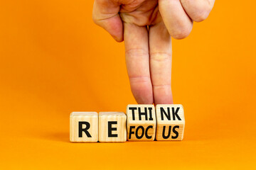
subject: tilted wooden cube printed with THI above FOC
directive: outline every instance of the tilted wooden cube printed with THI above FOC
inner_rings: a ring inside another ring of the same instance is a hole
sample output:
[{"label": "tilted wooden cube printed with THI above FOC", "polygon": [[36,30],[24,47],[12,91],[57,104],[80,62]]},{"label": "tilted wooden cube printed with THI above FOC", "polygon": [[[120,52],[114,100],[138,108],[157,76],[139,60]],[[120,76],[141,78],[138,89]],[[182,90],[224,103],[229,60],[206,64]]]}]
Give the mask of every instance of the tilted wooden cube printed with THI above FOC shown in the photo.
[{"label": "tilted wooden cube printed with THI above FOC", "polygon": [[154,105],[127,106],[127,140],[153,141],[156,134]]}]

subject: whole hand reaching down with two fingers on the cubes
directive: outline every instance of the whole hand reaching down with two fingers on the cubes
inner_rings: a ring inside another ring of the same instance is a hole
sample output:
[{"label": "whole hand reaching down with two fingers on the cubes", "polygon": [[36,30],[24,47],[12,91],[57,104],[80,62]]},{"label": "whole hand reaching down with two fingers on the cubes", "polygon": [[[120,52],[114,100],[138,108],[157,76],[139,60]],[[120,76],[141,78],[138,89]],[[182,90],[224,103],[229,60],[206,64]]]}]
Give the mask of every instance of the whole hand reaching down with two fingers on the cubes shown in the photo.
[{"label": "whole hand reaching down with two fingers on the cubes", "polygon": [[125,45],[132,94],[139,104],[171,104],[171,37],[186,38],[215,0],[95,0],[93,21]]}]

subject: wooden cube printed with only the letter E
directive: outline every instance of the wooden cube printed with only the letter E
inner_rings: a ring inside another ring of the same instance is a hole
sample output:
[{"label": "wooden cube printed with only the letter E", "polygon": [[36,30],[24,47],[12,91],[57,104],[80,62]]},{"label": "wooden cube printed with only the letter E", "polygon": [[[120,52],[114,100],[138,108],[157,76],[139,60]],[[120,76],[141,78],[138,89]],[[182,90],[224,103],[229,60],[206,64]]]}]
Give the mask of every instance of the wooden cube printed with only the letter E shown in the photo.
[{"label": "wooden cube printed with only the letter E", "polygon": [[99,141],[126,142],[127,115],[122,112],[99,113]]}]

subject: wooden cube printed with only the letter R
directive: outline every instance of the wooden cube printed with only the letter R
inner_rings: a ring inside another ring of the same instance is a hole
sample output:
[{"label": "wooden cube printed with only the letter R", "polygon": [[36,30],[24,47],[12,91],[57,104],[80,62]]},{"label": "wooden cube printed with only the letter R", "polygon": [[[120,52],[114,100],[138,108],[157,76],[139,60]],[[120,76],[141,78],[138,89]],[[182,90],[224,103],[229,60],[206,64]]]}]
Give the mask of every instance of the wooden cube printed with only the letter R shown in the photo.
[{"label": "wooden cube printed with only the letter R", "polygon": [[97,142],[98,115],[96,112],[70,114],[70,142]]}]

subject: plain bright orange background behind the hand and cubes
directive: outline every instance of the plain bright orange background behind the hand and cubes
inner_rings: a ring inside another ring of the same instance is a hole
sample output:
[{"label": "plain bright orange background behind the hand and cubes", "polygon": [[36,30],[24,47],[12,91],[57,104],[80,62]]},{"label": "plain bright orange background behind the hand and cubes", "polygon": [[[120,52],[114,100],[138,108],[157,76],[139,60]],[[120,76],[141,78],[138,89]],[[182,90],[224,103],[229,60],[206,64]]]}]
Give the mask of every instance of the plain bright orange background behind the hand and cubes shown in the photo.
[{"label": "plain bright orange background behind the hand and cubes", "polygon": [[182,142],[69,142],[72,111],[124,111],[124,44],[92,23],[93,1],[1,1],[0,169],[256,167],[255,1],[217,0],[173,40]]}]

